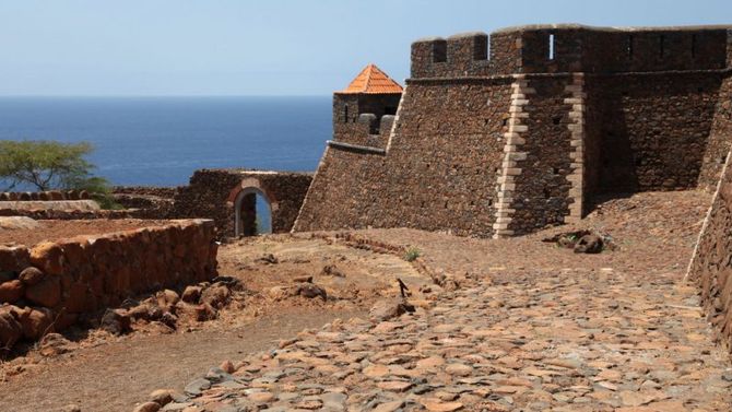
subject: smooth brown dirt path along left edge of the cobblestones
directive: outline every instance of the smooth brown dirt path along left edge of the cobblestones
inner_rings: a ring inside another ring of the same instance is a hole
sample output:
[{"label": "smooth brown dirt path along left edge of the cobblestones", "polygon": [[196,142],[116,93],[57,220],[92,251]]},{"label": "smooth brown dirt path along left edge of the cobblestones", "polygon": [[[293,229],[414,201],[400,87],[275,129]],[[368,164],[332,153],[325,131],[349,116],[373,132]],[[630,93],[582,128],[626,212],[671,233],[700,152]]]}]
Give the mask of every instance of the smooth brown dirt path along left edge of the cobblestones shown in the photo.
[{"label": "smooth brown dirt path along left edge of the cobblestones", "polygon": [[319,329],[359,313],[283,313],[227,332],[135,336],[63,355],[0,384],[3,412],[131,411],[151,388],[182,387],[223,360],[261,351],[304,328]]}]

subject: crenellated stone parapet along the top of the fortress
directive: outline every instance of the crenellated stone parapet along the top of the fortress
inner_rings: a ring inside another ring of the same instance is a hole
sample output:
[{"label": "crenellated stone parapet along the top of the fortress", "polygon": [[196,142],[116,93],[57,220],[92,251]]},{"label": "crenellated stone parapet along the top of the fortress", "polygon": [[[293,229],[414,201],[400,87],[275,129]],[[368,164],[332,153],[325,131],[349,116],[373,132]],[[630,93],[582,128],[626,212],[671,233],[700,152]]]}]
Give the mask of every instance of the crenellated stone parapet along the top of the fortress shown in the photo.
[{"label": "crenellated stone parapet along the top of the fortress", "polygon": [[509,27],[412,44],[412,79],[512,73],[625,73],[732,66],[732,26]]}]

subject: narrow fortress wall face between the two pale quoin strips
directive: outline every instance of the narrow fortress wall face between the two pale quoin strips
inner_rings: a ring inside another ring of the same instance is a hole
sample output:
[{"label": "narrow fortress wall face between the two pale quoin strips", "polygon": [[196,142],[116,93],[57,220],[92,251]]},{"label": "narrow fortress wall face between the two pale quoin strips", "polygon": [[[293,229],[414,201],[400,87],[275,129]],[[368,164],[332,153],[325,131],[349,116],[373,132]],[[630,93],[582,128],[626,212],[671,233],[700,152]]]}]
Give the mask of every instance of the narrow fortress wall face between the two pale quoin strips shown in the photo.
[{"label": "narrow fortress wall face between the two pale quoin strips", "polygon": [[565,98],[571,96],[567,91],[571,82],[571,76],[527,78],[528,103],[522,107],[527,116],[521,120],[526,132],[518,149],[526,155],[516,162],[520,172],[515,177],[510,204],[515,212],[508,224],[513,235],[560,224],[569,215],[572,104]]}]

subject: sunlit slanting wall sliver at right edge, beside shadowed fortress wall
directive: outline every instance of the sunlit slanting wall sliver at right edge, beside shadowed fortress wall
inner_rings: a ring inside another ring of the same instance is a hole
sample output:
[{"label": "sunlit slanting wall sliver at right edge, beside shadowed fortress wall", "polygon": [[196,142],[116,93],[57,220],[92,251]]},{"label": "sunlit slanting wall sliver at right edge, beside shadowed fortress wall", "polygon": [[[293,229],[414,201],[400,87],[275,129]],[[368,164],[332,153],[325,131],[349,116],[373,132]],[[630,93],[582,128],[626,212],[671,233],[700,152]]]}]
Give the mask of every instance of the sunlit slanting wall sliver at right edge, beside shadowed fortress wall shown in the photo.
[{"label": "sunlit slanting wall sliver at right edge, beside shadowed fortress wall", "polygon": [[713,190],[732,146],[732,76],[722,81],[715,107],[709,142],[704,154],[699,187]]}]

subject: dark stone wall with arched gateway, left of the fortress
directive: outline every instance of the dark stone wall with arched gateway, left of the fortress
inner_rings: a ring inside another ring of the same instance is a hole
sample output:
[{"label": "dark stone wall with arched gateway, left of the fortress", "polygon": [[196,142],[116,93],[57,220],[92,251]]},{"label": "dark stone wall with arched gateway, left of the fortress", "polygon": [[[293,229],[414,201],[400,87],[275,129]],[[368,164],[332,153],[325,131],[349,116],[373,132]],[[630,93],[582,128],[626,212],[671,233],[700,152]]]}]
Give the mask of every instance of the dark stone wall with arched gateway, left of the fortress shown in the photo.
[{"label": "dark stone wall with arched gateway, left of the fortress", "polygon": [[[176,193],[170,214],[176,219],[211,219],[220,236],[234,236],[234,205],[237,196],[241,193],[248,197],[244,200],[243,207],[248,208],[250,215],[253,210],[253,195],[257,192],[263,195],[270,203],[272,232],[290,232],[311,179],[312,176],[306,173],[246,169],[197,170],[190,178],[190,185],[180,188]],[[249,219],[248,222],[249,226],[253,224],[252,219]]]}]

